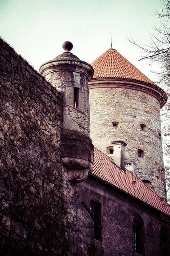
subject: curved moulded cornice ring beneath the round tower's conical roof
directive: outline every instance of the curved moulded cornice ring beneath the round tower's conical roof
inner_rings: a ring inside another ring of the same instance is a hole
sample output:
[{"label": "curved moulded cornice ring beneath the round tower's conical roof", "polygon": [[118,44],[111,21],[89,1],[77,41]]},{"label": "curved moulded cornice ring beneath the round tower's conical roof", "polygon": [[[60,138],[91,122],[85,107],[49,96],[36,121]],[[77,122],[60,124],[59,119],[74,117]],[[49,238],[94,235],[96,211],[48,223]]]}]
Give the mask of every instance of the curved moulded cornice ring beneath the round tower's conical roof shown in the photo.
[{"label": "curved moulded cornice ring beneath the round tower's conical roof", "polygon": [[165,93],[164,90],[162,90],[156,84],[150,84],[131,79],[93,79],[89,82],[89,89],[105,87],[125,88],[142,91],[155,97],[160,102],[161,108],[167,102],[167,93]]}]

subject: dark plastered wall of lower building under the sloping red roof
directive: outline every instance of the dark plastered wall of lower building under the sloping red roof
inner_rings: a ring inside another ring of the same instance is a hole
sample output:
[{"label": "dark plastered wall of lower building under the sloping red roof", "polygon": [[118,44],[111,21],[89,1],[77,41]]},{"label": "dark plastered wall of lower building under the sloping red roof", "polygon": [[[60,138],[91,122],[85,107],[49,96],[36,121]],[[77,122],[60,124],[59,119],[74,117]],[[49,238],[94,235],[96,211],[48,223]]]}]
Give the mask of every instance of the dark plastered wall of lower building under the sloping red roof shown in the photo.
[{"label": "dark plastered wall of lower building under the sloping red roof", "polygon": [[[91,180],[82,183],[82,201],[91,209],[91,202],[99,205],[99,239],[96,240],[97,256],[162,256],[170,255],[161,249],[163,232],[170,242],[170,230],[161,216],[149,212],[142,204],[135,204],[107,186]],[[141,224],[141,253],[133,250],[133,222]],[[163,231],[162,231],[163,230]],[[166,234],[165,234],[166,233]],[[165,250],[165,249],[164,249]]]}]

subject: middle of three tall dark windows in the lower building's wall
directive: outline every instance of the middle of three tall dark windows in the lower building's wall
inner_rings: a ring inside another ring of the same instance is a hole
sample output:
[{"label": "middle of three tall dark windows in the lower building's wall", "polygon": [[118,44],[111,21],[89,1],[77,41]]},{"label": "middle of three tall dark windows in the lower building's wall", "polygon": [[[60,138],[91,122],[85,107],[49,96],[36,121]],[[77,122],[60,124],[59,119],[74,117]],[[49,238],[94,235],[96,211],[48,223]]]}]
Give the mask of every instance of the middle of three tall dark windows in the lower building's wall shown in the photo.
[{"label": "middle of three tall dark windows in the lower building's wall", "polygon": [[133,250],[142,253],[142,225],[138,221],[133,222]]}]

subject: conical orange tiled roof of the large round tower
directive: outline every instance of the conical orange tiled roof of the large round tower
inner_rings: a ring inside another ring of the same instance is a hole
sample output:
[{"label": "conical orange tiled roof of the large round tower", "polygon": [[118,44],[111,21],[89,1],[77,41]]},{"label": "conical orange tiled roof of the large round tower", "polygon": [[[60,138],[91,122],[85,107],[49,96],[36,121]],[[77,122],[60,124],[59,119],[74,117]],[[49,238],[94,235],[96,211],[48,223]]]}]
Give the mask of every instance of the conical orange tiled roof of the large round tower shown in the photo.
[{"label": "conical orange tiled roof of the large round tower", "polygon": [[127,61],[115,49],[108,49],[91,63],[94,68],[94,79],[133,79],[154,84],[147,76]]}]

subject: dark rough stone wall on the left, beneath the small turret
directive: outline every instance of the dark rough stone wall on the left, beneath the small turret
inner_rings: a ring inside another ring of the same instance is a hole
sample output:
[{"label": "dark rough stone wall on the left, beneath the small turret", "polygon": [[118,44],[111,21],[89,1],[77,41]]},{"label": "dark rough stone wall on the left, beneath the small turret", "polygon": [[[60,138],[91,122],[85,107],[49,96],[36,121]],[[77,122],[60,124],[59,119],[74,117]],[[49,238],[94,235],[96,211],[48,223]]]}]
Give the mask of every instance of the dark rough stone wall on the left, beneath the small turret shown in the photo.
[{"label": "dark rough stone wall on the left, beneath the small turret", "polygon": [[94,255],[60,156],[63,98],[0,39],[0,255]]}]

